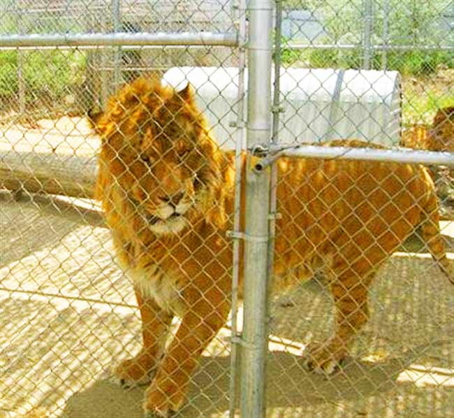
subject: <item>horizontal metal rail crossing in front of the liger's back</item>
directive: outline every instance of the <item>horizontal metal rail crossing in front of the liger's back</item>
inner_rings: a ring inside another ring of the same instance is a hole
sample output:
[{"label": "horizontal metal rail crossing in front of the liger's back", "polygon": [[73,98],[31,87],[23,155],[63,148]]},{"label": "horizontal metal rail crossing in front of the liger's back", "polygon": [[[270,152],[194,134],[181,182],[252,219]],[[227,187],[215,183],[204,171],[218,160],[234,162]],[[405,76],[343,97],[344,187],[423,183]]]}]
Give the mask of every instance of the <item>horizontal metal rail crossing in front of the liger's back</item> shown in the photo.
[{"label": "horizontal metal rail crossing in front of the liger's back", "polygon": [[453,152],[434,152],[423,150],[377,150],[376,148],[325,147],[319,145],[295,145],[275,147],[273,154],[256,163],[256,171],[262,171],[279,157],[356,159],[365,161],[389,161],[402,164],[429,164],[454,166]]}]

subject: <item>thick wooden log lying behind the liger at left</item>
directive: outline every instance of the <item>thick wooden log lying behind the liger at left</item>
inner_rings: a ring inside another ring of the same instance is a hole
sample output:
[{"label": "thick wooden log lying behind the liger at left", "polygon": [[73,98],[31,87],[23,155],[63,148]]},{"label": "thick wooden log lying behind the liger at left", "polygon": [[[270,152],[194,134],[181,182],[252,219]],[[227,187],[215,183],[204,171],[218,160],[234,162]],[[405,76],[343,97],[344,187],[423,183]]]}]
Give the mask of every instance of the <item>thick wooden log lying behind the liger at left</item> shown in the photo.
[{"label": "thick wooden log lying behind the liger at left", "polygon": [[94,198],[96,157],[0,152],[0,188]]}]

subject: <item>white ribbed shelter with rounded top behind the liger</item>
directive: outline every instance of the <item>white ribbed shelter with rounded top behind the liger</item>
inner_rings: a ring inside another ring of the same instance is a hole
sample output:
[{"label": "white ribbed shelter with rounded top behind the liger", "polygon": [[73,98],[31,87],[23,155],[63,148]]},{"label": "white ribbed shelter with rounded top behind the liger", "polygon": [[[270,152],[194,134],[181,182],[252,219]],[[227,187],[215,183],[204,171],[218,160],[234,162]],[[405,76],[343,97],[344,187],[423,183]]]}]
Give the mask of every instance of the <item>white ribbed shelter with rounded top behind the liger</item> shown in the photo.
[{"label": "white ribbed shelter with rounded top behind the liger", "polygon": [[[174,67],[164,82],[196,90],[200,110],[221,147],[233,149],[238,69]],[[247,74],[246,74],[247,85]],[[281,69],[279,143],[360,138],[382,145],[400,140],[400,74],[397,71]]]}]

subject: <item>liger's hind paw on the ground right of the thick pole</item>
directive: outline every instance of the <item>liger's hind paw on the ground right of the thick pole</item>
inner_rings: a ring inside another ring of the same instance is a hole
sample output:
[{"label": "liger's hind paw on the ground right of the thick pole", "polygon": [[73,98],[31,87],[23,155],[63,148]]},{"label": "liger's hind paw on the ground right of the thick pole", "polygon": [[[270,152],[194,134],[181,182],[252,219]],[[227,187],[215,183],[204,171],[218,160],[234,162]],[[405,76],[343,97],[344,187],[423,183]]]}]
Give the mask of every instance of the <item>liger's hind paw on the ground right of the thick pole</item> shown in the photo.
[{"label": "liger's hind paw on the ground right of the thick pole", "polygon": [[332,375],[342,366],[347,354],[344,345],[333,341],[321,345],[309,345],[305,366],[315,373]]}]

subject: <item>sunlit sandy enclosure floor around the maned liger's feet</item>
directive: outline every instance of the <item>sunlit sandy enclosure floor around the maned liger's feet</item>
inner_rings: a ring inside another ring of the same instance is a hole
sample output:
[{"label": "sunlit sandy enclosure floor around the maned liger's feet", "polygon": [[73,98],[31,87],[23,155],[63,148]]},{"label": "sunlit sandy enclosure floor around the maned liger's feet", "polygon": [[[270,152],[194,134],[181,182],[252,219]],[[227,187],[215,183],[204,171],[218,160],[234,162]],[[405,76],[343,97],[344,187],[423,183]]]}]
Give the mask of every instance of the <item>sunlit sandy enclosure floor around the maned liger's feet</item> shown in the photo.
[{"label": "sunlit sandy enclosure floor around the maned liger's feet", "polygon": [[[0,150],[89,156],[98,146],[74,118],[1,130]],[[442,227],[452,260],[454,222]],[[145,388],[109,380],[139,349],[140,320],[96,204],[0,194],[0,228],[0,417],[41,406],[52,418],[141,418]],[[369,324],[330,378],[301,359],[309,339],[330,333],[329,295],[308,282],[273,302],[267,417],[454,417],[454,290],[417,240],[383,267],[370,299]],[[203,354],[179,417],[228,415],[229,337]]]}]

